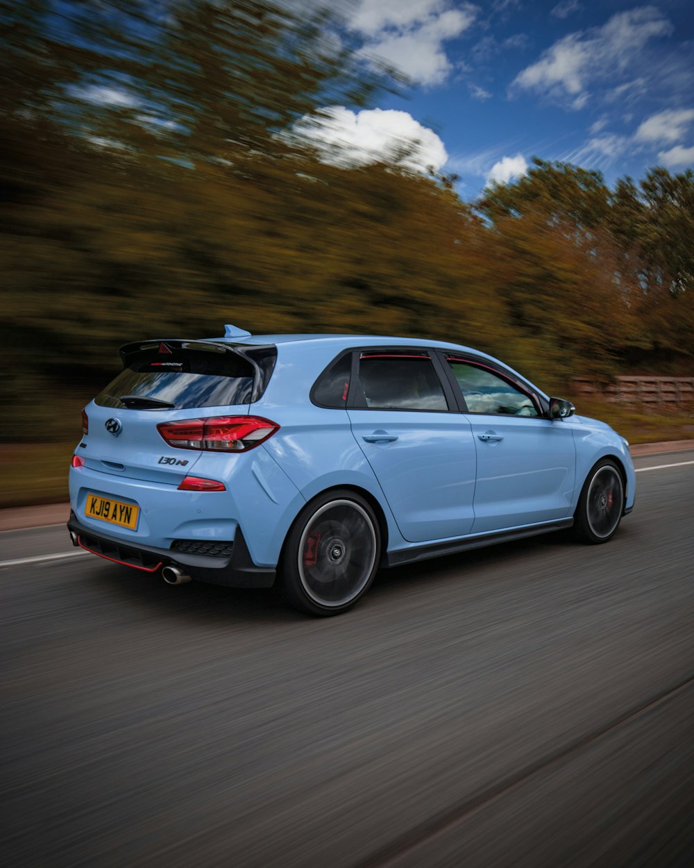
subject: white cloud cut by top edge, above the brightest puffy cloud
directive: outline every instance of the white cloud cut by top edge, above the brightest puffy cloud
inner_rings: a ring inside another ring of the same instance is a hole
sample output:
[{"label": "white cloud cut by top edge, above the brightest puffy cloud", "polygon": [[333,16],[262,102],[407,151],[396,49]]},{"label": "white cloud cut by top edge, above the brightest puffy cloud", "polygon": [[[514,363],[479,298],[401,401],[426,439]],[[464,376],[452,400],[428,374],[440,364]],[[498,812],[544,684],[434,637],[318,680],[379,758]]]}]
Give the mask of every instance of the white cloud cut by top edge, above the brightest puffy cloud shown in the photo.
[{"label": "white cloud cut by top edge, above the brightest puffy cloud", "polygon": [[475,21],[477,8],[450,0],[362,0],[352,26],[369,37],[362,55],[401,69],[413,82],[441,84],[453,69],[444,43]]}]

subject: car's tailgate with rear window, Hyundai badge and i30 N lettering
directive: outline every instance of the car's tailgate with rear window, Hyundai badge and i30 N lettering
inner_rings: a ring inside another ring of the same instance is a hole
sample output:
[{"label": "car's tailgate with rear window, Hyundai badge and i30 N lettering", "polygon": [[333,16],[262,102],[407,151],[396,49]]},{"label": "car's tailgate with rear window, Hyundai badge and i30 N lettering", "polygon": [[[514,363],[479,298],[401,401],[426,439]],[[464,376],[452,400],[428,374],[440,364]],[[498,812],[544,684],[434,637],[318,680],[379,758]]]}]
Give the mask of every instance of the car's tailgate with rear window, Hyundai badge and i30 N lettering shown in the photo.
[{"label": "car's tailgate with rear window, Hyundai badge and i30 N lettering", "polygon": [[121,351],[121,373],[88,405],[78,451],[102,473],[178,485],[200,458],[172,447],[158,425],[213,416],[246,416],[258,372],[225,345],[150,341]]}]

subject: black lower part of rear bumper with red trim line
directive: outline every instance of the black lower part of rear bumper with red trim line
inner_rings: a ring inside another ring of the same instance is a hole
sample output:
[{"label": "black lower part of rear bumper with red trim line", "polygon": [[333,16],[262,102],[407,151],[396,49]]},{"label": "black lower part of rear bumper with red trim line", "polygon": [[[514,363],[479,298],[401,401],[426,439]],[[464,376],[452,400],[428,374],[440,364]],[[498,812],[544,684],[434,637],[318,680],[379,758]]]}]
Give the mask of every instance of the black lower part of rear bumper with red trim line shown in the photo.
[{"label": "black lower part of rear bumper with red trim line", "polygon": [[197,582],[226,585],[229,588],[271,588],[275,582],[275,569],[257,567],[252,562],[241,529],[236,529],[232,544],[226,546],[231,554],[223,556],[201,555],[178,549],[157,549],[154,546],[125,543],[114,536],[82,524],[70,512],[68,529],[75,534],[77,544],[93,555],[125,564],[134,569],[154,573],[161,567],[177,566]]}]

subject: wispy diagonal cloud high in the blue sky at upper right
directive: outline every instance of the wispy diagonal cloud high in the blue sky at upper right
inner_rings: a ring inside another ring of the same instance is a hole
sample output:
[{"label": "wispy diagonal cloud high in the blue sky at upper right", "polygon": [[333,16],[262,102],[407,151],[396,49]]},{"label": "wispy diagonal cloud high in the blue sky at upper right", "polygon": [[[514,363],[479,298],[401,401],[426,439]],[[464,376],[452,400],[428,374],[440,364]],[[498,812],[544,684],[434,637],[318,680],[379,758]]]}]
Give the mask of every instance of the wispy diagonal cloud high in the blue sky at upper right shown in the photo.
[{"label": "wispy diagonal cloud high in the blue sky at upper right", "polygon": [[575,107],[590,82],[624,73],[649,40],[671,32],[671,23],[654,6],[619,12],[602,27],[570,33],[554,43],[516,76],[514,87],[563,102],[568,95]]}]

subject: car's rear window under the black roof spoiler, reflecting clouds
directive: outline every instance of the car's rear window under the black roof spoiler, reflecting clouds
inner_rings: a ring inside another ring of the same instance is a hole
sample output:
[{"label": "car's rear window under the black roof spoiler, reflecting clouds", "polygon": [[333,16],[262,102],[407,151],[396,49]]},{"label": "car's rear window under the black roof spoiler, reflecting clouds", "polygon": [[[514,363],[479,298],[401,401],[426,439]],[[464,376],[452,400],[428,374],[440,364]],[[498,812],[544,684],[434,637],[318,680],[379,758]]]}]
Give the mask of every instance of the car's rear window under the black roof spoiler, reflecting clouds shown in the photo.
[{"label": "car's rear window under the black roof spoiler, reflecting clouds", "polygon": [[[171,345],[168,345],[171,346]],[[102,407],[138,406],[140,398],[168,404],[176,410],[250,404],[258,400],[272,374],[275,347],[253,347],[243,358],[235,352],[208,352],[171,346],[162,353],[158,346],[128,352],[127,366],[95,398]],[[255,362],[255,365],[252,364]],[[121,398],[128,398],[121,401]]]}]

